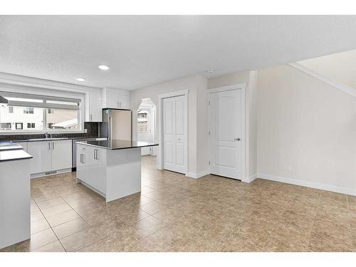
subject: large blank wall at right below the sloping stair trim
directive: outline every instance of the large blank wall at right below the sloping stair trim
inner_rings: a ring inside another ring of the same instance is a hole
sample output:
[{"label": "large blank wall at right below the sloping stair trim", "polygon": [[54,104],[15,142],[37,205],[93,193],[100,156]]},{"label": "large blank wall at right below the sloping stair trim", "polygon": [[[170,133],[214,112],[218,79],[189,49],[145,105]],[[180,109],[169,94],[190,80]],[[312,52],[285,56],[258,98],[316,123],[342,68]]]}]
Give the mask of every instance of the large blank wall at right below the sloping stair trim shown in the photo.
[{"label": "large blank wall at right below the sloping stair trim", "polygon": [[258,70],[258,175],[356,194],[356,98],[290,66]]}]

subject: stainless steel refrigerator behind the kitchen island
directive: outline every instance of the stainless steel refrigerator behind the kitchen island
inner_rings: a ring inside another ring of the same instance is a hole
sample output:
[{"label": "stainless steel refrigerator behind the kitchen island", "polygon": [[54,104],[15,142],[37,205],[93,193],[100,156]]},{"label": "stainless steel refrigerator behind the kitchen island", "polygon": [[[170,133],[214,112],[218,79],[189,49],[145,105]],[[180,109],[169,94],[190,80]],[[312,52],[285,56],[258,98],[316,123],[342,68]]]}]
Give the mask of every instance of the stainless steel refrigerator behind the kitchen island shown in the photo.
[{"label": "stainless steel refrigerator behind the kitchen island", "polygon": [[131,110],[103,109],[103,122],[100,123],[100,137],[108,140],[132,140]]}]

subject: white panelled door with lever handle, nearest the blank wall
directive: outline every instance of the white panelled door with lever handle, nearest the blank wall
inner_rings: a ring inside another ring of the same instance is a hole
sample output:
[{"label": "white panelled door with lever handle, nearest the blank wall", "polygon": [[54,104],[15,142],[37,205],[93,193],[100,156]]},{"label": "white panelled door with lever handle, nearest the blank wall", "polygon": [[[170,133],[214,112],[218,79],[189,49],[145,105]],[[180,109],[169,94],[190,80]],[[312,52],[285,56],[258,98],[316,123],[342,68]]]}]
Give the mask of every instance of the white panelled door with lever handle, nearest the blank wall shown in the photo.
[{"label": "white panelled door with lever handle, nearest the blank wall", "polygon": [[241,90],[210,93],[210,173],[241,179]]}]

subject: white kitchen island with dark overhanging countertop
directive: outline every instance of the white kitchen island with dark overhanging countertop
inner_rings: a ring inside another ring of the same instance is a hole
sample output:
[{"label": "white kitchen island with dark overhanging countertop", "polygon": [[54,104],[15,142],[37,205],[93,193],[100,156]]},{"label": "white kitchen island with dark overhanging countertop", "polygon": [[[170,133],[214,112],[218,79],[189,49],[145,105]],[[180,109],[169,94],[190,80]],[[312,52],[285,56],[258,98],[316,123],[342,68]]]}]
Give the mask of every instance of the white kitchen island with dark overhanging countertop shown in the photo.
[{"label": "white kitchen island with dark overhanging countertop", "polygon": [[141,191],[141,148],[127,140],[77,142],[77,180],[112,201]]}]

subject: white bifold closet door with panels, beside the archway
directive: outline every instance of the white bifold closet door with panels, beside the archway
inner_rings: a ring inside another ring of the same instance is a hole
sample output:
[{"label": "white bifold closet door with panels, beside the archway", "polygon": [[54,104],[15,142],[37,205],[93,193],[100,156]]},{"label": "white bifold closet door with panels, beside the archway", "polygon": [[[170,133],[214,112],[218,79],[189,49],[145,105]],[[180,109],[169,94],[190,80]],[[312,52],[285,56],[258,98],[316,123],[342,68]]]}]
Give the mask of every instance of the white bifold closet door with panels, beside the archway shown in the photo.
[{"label": "white bifold closet door with panels, beside the archway", "polygon": [[186,173],[187,107],[185,97],[163,99],[163,168]]}]

